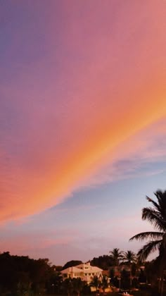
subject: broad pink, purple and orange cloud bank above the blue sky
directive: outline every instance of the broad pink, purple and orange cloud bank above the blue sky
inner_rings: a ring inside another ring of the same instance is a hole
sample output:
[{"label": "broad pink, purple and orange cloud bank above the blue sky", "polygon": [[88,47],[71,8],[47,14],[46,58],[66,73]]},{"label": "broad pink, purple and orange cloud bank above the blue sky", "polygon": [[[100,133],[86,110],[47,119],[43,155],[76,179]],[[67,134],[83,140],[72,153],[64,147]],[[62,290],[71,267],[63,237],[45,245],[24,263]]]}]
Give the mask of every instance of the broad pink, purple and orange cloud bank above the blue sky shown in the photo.
[{"label": "broad pink, purple and orange cloud bank above the blue sky", "polygon": [[129,155],[165,157],[147,137],[165,137],[162,1],[16,1],[0,16],[1,221],[132,178],[114,168]]}]

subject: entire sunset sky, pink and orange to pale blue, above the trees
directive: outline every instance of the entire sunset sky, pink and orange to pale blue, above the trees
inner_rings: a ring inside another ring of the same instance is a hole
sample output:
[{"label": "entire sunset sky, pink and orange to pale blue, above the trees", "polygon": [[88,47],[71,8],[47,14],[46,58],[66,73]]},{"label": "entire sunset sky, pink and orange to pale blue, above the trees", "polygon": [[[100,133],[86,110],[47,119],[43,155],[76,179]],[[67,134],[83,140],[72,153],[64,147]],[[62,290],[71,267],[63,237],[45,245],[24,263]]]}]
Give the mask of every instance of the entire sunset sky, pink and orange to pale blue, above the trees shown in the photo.
[{"label": "entire sunset sky, pink and orange to pale blue, above the trees", "polygon": [[165,190],[165,1],[0,0],[0,250],[87,261]]}]

